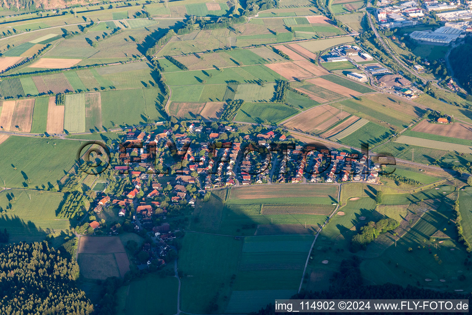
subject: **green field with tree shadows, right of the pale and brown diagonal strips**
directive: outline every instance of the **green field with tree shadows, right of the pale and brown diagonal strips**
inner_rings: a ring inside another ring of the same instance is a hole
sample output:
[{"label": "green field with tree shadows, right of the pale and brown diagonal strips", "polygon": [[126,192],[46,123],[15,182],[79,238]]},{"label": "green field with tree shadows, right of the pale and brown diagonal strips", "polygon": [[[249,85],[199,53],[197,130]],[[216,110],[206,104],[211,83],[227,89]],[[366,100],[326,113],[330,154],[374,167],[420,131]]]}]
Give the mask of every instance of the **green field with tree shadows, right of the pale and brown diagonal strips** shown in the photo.
[{"label": "green field with tree shadows, right of the pale and brown diagonal strips", "polygon": [[339,141],[342,144],[350,145],[354,147],[361,147],[361,141],[369,143],[370,145],[376,145],[393,134],[391,129],[387,129],[380,125],[374,124],[373,122],[368,122],[362,128],[357,129],[349,136],[346,136]]}]

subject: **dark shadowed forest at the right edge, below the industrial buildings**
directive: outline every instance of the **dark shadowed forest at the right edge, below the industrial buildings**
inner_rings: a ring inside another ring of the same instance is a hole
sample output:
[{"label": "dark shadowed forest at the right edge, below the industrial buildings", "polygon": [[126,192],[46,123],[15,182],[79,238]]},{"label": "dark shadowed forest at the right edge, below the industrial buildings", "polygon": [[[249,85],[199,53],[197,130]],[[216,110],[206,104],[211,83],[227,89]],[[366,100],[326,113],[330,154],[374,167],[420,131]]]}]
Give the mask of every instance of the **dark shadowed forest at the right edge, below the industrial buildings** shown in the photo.
[{"label": "dark shadowed forest at the right edge, below the industrial buildings", "polygon": [[449,54],[449,62],[454,77],[468,92],[472,91],[472,60],[464,56],[464,51],[472,50],[472,38],[465,38],[465,43],[455,47]]}]

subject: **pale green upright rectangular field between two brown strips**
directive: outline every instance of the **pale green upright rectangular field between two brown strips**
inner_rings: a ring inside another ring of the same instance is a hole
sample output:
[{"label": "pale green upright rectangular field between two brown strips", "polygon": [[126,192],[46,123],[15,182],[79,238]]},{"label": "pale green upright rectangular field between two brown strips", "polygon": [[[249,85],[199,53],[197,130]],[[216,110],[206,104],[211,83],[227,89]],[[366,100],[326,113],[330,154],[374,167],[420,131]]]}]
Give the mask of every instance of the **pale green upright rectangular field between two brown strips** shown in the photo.
[{"label": "pale green upright rectangular field between two brown strips", "polygon": [[85,94],[66,95],[64,131],[85,131]]}]

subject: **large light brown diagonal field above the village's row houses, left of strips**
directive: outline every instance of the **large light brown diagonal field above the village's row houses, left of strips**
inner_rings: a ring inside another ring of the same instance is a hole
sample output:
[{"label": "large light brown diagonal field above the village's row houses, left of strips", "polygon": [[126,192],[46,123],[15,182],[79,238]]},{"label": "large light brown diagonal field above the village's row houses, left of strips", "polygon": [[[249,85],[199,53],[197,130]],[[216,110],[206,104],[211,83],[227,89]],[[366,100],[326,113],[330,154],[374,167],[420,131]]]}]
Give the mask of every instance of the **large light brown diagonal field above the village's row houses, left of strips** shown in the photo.
[{"label": "large light brown diagonal field above the village's row houses, left of strips", "polygon": [[284,124],[287,128],[298,131],[316,133],[336,123],[338,120],[349,115],[330,105],[316,106],[303,112]]}]

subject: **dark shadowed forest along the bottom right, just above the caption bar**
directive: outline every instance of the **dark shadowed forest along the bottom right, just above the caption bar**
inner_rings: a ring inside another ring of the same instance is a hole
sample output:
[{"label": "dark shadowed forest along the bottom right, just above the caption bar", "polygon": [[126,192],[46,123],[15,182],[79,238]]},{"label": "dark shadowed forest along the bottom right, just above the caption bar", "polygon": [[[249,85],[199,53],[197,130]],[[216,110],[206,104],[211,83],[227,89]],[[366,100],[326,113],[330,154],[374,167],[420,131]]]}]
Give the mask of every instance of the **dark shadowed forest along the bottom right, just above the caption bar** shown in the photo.
[{"label": "dark shadowed forest along the bottom right, just above the caption bar", "polygon": [[[344,259],[341,262],[339,272],[334,274],[331,285],[327,291],[321,292],[301,292],[295,294],[293,299],[472,299],[472,295],[460,294],[452,292],[433,291],[430,289],[421,289],[413,286],[402,287],[397,284],[386,283],[382,285],[363,285],[361,263],[358,257]],[[266,308],[261,309],[257,313],[251,315],[272,315],[276,314],[274,306],[269,304]],[[277,313],[284,315],[288,313]],[[328,313],[305,313],[305,314],[328,314]],[[350,314],[336,313],[336,314]],[[358,313],[362,314],[362,313]],[[393,314],[393,313],[382,313]],[[396,313],[401,314],[401,313]],[[408,313],[408,314],[424,314],[424,313]],[[440,313],[437,313],[440,314]]]}]

